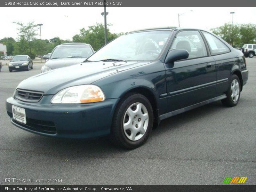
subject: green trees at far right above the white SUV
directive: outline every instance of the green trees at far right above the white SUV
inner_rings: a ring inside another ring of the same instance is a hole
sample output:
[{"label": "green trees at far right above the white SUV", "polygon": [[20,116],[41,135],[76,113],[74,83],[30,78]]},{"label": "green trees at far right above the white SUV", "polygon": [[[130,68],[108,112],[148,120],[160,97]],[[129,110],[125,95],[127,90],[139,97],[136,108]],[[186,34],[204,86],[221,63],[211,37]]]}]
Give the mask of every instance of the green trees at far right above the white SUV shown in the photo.
[{"label": "green trees at far right above the white SUV", "polygon": [[234,47],[242,47],[244,44],[255,43],[256,41],[255,24],[233,24],[232,28],[230,23],[225,23],[218,28],[212,28],[211,31],[227,43],[233,43]]}]

